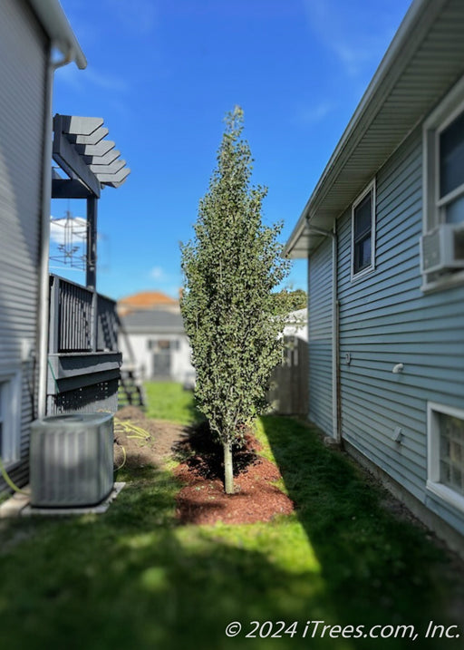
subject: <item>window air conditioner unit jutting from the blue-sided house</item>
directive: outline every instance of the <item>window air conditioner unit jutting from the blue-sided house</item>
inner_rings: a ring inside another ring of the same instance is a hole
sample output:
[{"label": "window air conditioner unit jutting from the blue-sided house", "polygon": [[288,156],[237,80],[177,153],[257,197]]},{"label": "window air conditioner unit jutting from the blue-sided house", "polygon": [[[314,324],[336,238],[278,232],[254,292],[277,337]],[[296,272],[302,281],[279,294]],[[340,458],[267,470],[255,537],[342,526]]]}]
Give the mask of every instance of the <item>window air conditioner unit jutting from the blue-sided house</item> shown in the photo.
[{"label": "window air conditioner unit jutting from the blue-sided house", "polygon": [[420,238],[422,273],[464,268],[464,223],[443,223]]}]

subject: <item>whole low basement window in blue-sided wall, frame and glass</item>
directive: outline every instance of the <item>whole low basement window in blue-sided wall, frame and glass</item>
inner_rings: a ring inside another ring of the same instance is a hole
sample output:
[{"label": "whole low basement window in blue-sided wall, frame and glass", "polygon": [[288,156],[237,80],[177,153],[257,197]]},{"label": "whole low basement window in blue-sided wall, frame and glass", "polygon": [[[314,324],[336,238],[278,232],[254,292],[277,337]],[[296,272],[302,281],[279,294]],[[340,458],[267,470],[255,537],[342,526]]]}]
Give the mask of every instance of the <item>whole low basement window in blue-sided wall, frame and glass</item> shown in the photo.
[{"label": "whole low basement window in blue-sided wall, frame and glass", "polygon": [[427,488],[464,510],[464,411],[428,404]]}]

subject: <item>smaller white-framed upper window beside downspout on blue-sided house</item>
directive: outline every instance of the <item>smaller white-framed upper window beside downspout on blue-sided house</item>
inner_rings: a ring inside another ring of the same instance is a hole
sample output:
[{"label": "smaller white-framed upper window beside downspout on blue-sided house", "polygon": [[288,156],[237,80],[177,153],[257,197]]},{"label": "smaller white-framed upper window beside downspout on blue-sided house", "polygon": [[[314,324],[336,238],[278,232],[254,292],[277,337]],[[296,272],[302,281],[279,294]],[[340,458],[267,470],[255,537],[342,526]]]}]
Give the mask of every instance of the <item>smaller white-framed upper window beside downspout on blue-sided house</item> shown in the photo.
[{"label": "smaller white-framed upper window beside downspout on blue-sided house", "polygon": [[372,182],[353,203],[352,278],[374,267],[375,184]]}]

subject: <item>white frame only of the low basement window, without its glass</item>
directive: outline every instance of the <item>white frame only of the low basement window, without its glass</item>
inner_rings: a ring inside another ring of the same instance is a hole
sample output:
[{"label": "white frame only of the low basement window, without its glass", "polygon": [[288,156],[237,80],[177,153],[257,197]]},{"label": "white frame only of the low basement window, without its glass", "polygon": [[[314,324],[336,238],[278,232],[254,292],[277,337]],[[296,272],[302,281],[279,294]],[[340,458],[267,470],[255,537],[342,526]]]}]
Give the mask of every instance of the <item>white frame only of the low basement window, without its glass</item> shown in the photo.
[{"label": "white frame only of the low basement window, without its glass", "polygon": [[427,403],[427,490],[464,512],[464,496],[440,483],[440,429],[435,413],[440,412],[464,420],[464,410],[439,404]]}]

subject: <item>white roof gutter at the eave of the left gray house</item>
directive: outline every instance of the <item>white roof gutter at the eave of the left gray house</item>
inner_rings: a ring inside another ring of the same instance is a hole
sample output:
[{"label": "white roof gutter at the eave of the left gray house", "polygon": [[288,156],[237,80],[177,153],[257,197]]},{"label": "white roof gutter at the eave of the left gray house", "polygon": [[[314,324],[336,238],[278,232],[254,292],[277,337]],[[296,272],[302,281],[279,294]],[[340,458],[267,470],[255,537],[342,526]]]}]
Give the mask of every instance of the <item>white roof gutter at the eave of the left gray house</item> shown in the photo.
[{"label": "white roof gutter at the eave of the left gray house", "polygon": [[87,67],[87,59],[59,1],[28,0],[28,2],[44,31],[49,35],[53,47],[63,54],[66,63],[74,61],[80,70]]}]

